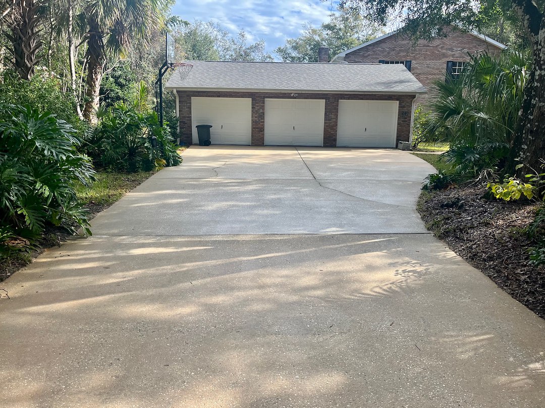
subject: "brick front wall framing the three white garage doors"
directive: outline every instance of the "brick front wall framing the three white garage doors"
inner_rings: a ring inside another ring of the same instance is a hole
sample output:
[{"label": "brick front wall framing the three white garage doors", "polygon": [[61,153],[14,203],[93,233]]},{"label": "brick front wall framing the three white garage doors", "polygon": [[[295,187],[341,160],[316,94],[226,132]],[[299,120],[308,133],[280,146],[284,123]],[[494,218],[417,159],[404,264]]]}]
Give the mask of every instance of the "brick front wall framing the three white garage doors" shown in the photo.
[{"label": "brick front wall framing the three white garage doors", "polygon": [[[282,92],[219,92],[178,90],[179,129],[185,144],[192,143],[191,97],[252,98],[252,146],[265,144],[265,99],[293,99],[289,93]],[[367,94],[298,94],[296,99],[325,100],[324,147],[337,145],[337,116],[339,100],[358,101],[399,101],[397,113],[397,139],[409,141],[411,108],[415,95],[367,95]]]}]

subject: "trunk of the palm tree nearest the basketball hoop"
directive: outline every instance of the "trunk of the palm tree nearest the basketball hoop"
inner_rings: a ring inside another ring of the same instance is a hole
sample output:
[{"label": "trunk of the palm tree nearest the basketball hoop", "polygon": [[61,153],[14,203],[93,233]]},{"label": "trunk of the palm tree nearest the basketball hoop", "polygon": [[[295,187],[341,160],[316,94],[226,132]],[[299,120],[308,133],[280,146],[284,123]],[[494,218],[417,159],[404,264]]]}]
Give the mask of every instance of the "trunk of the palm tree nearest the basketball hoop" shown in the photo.
[{"label": "trunk of the palm tree nearest the basketball hoop", "polygon": [[96,123],[96,110],[100,103],[100,82],[104,70],[106,55],[103,34],[99,30],[99,24],[93,17],[89,18],[89,33],[87,40],[87,102],[83,109],[83,118],[90,123]]}]

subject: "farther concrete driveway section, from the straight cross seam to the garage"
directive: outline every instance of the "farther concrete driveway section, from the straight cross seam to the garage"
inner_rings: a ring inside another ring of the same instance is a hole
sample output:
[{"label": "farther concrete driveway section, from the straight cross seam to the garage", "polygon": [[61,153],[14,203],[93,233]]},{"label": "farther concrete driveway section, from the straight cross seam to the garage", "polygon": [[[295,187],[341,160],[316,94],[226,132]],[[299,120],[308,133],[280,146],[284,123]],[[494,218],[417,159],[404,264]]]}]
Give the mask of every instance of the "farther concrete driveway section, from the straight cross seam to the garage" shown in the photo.
[{"label": "farther concrete driveway section, from the straight cross seam to the garage", "polygon": [[93,221],[95,234],[427,233],[415,211],[434,169],[392,149],[191,147]]}]

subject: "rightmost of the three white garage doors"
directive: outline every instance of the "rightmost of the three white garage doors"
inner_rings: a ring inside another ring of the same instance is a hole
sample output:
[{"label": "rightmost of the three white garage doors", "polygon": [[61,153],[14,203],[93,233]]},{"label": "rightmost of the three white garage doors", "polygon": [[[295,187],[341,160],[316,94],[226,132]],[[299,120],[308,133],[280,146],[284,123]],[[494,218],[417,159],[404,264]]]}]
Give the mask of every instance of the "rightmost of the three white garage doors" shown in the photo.
[{"label": "rightmost of the three white garage doors", "polygon": [[339,101],[337,146],[396,147],[397,101]]}]

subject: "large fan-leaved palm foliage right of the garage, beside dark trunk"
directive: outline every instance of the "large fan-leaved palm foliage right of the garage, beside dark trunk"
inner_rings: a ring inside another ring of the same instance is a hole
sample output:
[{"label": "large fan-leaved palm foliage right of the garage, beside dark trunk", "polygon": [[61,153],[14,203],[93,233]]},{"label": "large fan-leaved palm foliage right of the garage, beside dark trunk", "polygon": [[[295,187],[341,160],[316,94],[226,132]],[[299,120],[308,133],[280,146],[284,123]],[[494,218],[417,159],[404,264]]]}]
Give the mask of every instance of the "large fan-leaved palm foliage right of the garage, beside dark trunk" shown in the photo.
[{"label": "large fan-leaved palm foliage right of the garage, beside dark trunk", "polygon": [[458,174],[502,169],[513,143],[529,67],[528,55],[506,51],[499,57],[471,56],[457,80],[436,81],[421,131],[451,143],[447,162]]}]

